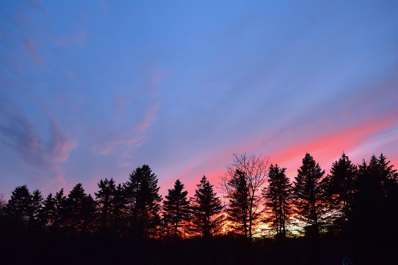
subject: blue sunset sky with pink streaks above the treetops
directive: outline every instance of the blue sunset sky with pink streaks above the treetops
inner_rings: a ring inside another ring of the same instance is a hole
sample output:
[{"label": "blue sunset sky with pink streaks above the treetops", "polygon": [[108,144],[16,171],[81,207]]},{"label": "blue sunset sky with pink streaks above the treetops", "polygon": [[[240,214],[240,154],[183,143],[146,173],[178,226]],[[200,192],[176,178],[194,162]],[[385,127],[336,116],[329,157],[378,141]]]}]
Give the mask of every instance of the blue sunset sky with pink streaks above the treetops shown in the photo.
[{"label": "blue sunset sky with pink streaks above the treetops", "polygon": [[[0,192],[398,165],[397,1],[1,1]],[[395,166],[395,168],[397,168]]]}]

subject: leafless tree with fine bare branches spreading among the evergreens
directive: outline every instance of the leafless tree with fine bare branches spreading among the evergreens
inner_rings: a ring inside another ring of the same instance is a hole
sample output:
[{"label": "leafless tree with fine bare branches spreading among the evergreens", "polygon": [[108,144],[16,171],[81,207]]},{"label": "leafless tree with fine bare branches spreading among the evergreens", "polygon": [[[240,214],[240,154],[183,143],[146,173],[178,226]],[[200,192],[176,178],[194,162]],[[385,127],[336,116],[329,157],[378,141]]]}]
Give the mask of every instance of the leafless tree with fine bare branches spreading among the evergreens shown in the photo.
[{"label": "leafless tree with fine bare branches spreading among the evergreens", "polygon": [[[220,189],[225,194],[226,213],[229,220],[238,223],[238,230],[252,242],[264,199],[261,188],[268,177],[269,157],[233,154],[234,162],[220,176]],[[248,233],[248,234],[247,234]]]}]

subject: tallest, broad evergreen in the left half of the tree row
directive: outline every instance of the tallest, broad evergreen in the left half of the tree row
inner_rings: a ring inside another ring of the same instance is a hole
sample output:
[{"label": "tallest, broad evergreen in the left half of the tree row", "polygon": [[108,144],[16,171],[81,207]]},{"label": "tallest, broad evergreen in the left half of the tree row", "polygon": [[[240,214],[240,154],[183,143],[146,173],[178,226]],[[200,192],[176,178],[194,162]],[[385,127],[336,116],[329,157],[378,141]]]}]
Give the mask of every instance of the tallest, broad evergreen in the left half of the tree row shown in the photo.
[{"label": "tallest, broad evergreen in the left half of the tree row", "polygon": [[123,184],[127,200],[127,218],[130,232],[138,237],[155,233],[160,225],[160,202],[158,178],[144,164],[131,172],[129,181]]}]

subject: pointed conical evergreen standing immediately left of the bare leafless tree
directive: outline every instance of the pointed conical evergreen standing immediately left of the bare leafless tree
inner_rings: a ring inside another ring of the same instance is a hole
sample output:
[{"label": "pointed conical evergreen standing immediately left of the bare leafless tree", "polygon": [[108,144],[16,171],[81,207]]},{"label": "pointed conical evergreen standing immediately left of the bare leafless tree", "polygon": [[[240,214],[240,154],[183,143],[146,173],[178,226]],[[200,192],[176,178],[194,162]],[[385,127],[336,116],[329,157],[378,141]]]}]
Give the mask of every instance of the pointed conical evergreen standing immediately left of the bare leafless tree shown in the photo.
[{"label": "pointed conical evergreen standing immediately left of the bare leafless tree", "polygon": [[220,231],[223,221],[222,204],[217,193],[213,191],[213,185],[210,185],[205,176],[196,186],[198,189],[191,198],[192,230],[207,238]]}]

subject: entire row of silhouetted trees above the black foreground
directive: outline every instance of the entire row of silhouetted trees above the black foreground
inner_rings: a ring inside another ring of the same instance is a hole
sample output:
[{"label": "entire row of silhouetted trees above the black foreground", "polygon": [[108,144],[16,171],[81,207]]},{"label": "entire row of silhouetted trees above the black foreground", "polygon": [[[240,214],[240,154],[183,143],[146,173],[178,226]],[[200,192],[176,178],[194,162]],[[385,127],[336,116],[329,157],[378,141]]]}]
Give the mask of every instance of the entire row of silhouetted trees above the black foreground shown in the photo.
[{"label": "entire row of silhouetted trees above the black foreground", "polygon": [[164,199],[157,176],[144,164],[125,183],[101,179],[94,197],[81,183],[67,196],[61,189],[46,198],[39,190],[30,193],[26,185],[16,187],[11,199],[2,202],[1,214],[9,222],[68,234],[188,238],[229,233],[252,242],[256,233],[267,230],[281,242],[295,232],[361,238],[364,231],[389,234],[397,224],[398,173],[389,163],[380,154],[355,165],[343,153],[324,176],[325,170],[306,153],[291,183],[286,168],[269,164],[267,157],[235,154],[220,176],[222,197],[203,176],[193,197],[187,197],[178,179]]}]

